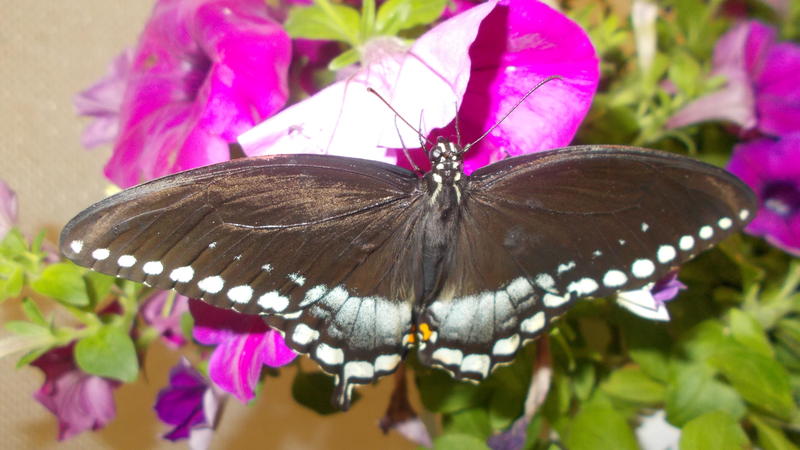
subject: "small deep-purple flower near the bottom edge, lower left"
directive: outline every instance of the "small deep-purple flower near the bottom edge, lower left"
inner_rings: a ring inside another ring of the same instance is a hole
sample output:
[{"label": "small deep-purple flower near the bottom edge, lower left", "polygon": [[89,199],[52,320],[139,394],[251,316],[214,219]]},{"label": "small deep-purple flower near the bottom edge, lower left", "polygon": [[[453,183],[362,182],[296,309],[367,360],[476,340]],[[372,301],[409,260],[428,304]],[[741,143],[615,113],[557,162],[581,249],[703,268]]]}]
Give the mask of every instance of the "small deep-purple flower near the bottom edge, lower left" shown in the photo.
[{"label": "small deep-purple flower near the bottom edge, lower left", "polygon": [[175,427],[164,438],[177,441],[191,437],[193,444],[202,439],[206,441],[202,448],[207,447],[221,400],[205,377],[181,359],[169,373],[169,386],[158,392],[154,407],[162,422]]}]

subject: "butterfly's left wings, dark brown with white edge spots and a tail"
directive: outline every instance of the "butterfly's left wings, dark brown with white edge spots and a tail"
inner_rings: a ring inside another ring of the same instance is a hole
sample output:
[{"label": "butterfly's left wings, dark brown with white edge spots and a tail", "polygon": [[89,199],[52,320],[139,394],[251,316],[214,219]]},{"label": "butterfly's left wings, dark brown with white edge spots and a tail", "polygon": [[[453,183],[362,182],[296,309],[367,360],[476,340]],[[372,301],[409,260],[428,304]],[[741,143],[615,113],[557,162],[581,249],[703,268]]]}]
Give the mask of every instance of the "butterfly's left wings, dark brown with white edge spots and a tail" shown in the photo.
[{"label": "butterfly's left wings, dark brown with white edge spots and a tail", "polygon": [[99,272],[264,315],[338,377],[347,407],[352,383],[392,372],[406,352],[418,184],[359,159],[234,160],[109,197],[64,228],[61,246]]}]

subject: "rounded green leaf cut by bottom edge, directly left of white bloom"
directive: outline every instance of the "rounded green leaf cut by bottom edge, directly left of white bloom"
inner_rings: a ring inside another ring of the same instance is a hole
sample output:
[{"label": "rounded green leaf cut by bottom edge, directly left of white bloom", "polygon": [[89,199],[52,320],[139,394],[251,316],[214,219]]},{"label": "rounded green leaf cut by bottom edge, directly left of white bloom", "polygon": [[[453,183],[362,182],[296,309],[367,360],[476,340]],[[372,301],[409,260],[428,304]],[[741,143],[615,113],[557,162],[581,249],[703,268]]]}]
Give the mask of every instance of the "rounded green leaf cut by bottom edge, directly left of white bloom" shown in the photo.
[{"label": "rounded green leaf cut by bottom edge, directly left of white bloom", "polygon": [[628,422],[613,407],[587,404],[575,416],[564,439],[570,450],[638,449]]}]

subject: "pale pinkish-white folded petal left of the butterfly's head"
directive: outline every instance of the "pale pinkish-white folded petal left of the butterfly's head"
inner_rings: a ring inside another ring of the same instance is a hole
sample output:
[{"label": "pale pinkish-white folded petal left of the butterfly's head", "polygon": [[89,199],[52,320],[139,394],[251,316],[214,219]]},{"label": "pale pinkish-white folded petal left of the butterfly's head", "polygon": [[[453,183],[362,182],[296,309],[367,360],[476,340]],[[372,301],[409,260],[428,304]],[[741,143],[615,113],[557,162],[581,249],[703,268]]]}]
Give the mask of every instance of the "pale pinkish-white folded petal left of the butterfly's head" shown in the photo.
[{"label": "pale pinkish-white folded petal left of the butterfly's head", "polygon": [[[394,38],[368,44],[365,65],[346,80],[287,108],[239,136],[249,155],[326,153],[396,161],[386,148],[406,146],[418,137],[374,95],[383,95],[408,120],[440,127],[455,116],[455,105],[469,80],[467,49],[478,25],[496,2],[478,5],[425,33],[405,51]],[[399,122],[398,122],[399,123]]]}]

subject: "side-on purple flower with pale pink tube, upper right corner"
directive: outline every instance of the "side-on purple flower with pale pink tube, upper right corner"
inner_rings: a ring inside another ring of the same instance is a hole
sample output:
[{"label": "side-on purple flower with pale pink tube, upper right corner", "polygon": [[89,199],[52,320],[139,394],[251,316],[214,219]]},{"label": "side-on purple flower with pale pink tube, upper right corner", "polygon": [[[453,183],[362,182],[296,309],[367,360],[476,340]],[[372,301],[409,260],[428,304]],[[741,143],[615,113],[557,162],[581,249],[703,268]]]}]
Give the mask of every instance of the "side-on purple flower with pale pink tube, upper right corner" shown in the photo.
[{"label": "side-on purple flower with pale pink tube, upper right corner", "polygon": [[725,87],[678,111],[667,126],[725,120],[769,135],[800,131],[800,85],[794,82],[800,46],[778,43],[775,34],[756,21],[725,33],[714,48],[712,71],[727,79]]}]

